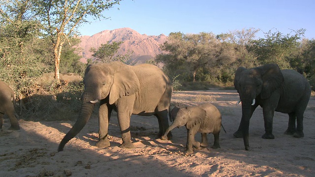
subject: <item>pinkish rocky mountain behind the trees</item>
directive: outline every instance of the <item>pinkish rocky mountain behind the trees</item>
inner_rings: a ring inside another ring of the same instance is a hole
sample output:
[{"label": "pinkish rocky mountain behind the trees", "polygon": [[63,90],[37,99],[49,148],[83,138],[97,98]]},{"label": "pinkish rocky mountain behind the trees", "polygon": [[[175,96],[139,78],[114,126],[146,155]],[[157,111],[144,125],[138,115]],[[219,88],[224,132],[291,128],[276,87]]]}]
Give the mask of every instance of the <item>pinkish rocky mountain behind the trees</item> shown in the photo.
[{"label": "pinkish rocky mountain behind the trees", "polygon": [[92,58],[92,52],[89,52],[91,47],[98,48],[101,44],[109,42],[120,42],[121,47],[118,54],[125,55],[128,50],[133,51],[131,60],[136,63],[144,63],[146,60],[154,59],[156,55],[161,54],[159,48],[160,44],[163,44],[167,40],[167,36],[160,34],[146,35],[140,34],[137,31],[130,28],[103,30],[92,36],[81,36],[81,43],[78,47],[82,48],[82,62],[86,62],[87,59]]}]

